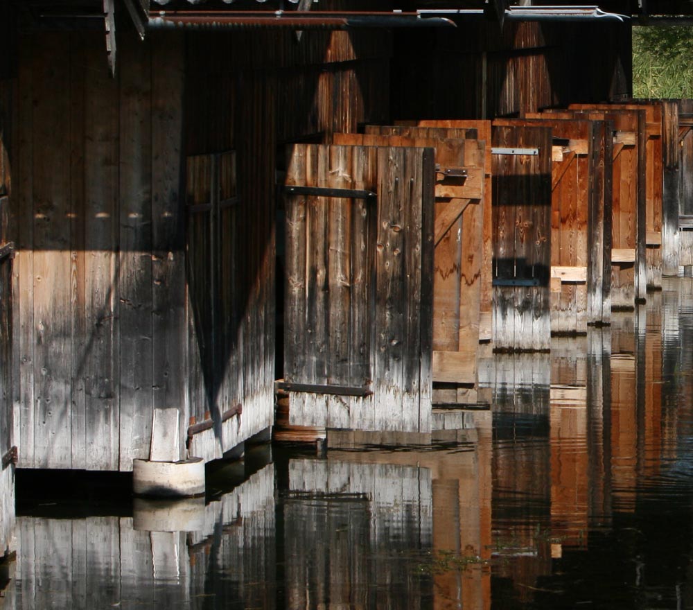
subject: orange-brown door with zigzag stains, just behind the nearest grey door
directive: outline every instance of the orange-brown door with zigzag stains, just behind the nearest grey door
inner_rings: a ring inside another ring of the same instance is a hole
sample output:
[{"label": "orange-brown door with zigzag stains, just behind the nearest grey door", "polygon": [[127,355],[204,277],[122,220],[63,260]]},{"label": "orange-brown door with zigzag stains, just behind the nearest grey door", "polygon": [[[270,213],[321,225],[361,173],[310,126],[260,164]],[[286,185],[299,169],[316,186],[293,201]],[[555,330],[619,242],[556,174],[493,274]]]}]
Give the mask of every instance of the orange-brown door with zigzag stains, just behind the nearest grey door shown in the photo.
[{"label": "orange-brown door with zigzag stains, just behind the nearest grey door", "polygon": [[435,150],[433,381],[475,387],[485,143],[464,139],[475,130],[376,125],[366,130],[367,134],[335,134],[333,141],[362,146],[430,146]]}]

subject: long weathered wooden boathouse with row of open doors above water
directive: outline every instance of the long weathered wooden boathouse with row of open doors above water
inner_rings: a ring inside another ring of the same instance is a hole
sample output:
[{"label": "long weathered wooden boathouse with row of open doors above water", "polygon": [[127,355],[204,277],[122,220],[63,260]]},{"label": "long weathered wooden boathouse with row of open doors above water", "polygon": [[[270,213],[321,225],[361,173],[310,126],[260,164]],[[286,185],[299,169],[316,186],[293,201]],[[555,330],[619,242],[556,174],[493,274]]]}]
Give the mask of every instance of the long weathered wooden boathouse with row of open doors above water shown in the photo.
[{"label": "long weathered wooden boathouse with row of open doors above water", "polygon": [[443,394],[480,400],[480,349],[549,349],[689,264],[685,177],[612,245],[612,148],[645,172],[659,120],[597,106],[631,97],[639,3],[361,4],[0,3],[3,455],[130,471],[174,410],[171,460],[207,462],[277,389],[292,424],[426,439]]}]

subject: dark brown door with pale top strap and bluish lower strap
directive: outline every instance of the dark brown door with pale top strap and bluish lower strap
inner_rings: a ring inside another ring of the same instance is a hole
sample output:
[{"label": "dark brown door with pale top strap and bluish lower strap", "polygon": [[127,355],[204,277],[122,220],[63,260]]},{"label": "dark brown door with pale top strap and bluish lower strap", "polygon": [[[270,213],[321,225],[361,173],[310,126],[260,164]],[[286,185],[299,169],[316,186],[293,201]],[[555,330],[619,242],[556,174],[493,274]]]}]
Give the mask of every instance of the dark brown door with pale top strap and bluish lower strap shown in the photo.
[{"label": "dark brown door with pale top strap and bluish lower strap", "polygon": [[493,347],[551,342],[550,128],[493,125]]}]

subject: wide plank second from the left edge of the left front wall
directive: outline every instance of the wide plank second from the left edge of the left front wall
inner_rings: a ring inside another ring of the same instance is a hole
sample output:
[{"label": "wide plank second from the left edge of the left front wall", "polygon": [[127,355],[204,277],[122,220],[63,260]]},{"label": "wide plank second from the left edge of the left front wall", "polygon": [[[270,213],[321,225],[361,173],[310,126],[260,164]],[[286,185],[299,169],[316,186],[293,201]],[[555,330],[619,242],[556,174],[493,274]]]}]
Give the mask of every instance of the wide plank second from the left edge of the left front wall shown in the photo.
[{"label": "wide plank second from the left edge of the left front wall", "polygon": [[71,456],[71,261],[69,46],[42,37],[33,100],[35,467],[69,468]]}]

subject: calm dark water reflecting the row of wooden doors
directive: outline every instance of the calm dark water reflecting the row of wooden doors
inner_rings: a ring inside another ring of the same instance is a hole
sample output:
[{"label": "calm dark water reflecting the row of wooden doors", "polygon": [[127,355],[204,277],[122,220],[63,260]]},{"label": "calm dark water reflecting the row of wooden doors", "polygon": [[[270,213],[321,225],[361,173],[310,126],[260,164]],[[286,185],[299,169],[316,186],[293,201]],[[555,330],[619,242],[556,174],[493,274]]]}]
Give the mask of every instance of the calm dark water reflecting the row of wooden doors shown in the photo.
[{"label": "calm dark water reflecting the row of wooden doors", "polygon": [[180,503],[20,479],[0,608],[693,608],[693,280],[481,369],[457,446],[258,447]]}]

